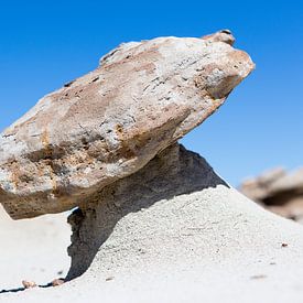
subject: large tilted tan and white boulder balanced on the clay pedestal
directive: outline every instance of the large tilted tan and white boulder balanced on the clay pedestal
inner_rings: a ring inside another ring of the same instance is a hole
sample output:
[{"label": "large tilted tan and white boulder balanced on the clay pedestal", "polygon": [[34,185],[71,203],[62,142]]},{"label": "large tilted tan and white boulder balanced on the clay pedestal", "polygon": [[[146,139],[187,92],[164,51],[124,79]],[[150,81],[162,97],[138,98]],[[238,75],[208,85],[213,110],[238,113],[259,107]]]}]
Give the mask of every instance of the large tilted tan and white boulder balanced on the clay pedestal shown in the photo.
[{"label": "large tilted tan and white boulder balanced on the clay pedestal", "polygon": [[252,69],[228,31],[122,44],[0,137],[12,218],[71,209],[202,123]]}]

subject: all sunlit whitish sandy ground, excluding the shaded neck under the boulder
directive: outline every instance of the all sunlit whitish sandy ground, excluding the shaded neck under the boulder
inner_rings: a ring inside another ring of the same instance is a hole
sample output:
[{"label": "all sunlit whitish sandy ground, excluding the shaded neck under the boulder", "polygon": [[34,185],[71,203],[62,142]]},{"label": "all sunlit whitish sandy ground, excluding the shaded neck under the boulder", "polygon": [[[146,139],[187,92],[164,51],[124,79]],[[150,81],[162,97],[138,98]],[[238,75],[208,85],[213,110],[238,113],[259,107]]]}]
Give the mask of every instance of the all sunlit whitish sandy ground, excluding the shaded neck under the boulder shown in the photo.
[{"label": "all sunlit whitish sandy ground, excluding the shaded neck under the boulder", "polygon": [[[65,216],[20,223],[1,216],[1,289],[66,273]],[[80,278],[2,293],[0,302],[299,303],[303,227],[219,185],[130,213]]]}]

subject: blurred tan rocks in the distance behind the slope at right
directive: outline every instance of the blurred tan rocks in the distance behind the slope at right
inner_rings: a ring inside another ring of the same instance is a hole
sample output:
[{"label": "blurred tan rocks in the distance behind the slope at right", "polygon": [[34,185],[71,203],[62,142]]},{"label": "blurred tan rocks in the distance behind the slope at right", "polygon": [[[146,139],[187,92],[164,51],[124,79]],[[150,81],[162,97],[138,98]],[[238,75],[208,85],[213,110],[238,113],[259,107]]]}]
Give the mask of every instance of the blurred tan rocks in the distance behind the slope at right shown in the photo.
[{"label": "blurred tan rocks in the distance behind the slope at right", "polygon": [[303,169],[288,173],[275,169],[242,183],[249,198],[283,217],[303,223]]}]

